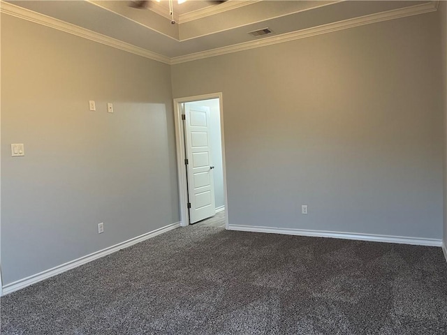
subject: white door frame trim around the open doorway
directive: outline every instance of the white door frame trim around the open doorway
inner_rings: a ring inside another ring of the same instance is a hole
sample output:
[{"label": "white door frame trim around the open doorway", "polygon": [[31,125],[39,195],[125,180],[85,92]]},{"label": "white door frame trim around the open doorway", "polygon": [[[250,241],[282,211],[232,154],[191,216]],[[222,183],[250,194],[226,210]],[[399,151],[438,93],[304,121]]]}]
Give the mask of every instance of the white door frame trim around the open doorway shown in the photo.
[{"label": "white door frame trim around the open doorway", "polygon": [[174,99],[174,121],[175,121],[175,148],[177,150],[177,175],[179,180],[179,208],[180,208],[180,225],[186,227],[189,225],[188,215],[188,185],[186,179],[186,168],[184,165],[185,142],[184,128],[182,125],[182,103],[193,103],[194,101],[219,99],[219,112],[221,124],[221,147],[222,147],[222,170],[223,170],[223,199],[226,210],[225,228],[228,229],[228,201],[226,193],[226,163],[225,163],[225,141],[223,140],[223,103],[222,92],[202,94],[200,96],[186,96],[184,98]]}]

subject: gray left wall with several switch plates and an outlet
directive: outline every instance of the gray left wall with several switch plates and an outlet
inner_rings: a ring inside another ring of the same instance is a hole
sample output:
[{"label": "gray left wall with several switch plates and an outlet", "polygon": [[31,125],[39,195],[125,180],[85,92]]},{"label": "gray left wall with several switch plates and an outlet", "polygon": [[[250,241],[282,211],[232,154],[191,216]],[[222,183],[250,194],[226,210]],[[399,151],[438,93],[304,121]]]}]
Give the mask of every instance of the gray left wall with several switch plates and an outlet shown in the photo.
[{"label": "gray left wall with several switch plates and an outlet", "polygon": [[170,66],[2,15],[1,81],[3,285],[179,221]]}]

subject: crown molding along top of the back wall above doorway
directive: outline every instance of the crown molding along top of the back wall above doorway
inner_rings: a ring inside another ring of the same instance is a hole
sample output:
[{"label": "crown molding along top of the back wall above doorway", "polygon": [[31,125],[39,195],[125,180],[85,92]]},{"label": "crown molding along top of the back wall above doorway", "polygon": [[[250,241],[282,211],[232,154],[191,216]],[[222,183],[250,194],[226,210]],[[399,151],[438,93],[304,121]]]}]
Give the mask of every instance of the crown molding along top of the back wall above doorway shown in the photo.
[{"label": "crown molding along top of the back wall above doorway", "polygon": [[308,38],[321,34],[332,33],[333,31],[359,27],[365,24],[372,24],[376,22],[394,20],[401,17],[430,13],[437,10],[438,3],[439,1],[431,1],[430,3],[423,3],[416,6],[399,8],[395,10],[388,10],[382,13],[365,15],[362,17],[356,17],[349,20],[323,24],[322,26],[302,29],[300,31],[292,31],[291,33],[266,37],[263,38],[262,40],[251,40],[249,42],[229,45],[228,47],[218,47],[216,49],[205,50],[203,52],[186,54],[184,56],[171,58],[171,64],[180,64],[185,63],[187,61],[195,61],[197,59],[219,56],[221,54],[230,54],[233,52],[254,49],[256,47],[265,47],[267,45],[274,45],[277,43],[284,43],[291,40],[298,40],[300,38]]}]

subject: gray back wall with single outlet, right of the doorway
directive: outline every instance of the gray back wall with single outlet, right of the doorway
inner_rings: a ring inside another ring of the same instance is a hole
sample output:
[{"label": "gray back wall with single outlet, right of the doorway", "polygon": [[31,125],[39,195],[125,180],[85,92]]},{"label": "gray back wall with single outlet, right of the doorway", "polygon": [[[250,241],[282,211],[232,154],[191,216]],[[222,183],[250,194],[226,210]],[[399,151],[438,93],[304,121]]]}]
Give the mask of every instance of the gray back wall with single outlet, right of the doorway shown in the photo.
[{"label": "gray back wall with single outlet, right of the doorway", "polygon": [[175,97],[223,92],[230,225],[441,239],[439,38],[430,13],[172,66]]}]

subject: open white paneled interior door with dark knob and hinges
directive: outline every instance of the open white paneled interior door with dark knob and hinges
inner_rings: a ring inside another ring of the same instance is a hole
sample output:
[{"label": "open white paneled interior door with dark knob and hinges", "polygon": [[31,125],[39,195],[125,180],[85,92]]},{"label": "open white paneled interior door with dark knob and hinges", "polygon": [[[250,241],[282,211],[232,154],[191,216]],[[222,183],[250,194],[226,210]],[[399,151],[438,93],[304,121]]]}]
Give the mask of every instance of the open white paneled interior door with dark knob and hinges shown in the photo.
[{"label": "open white paneled interior door with dark knob and hinges", "polygon": [[185,140],[188,159],[189,222],[216,214],[210,146],[210,107],[185,104]]}]

